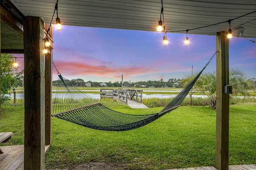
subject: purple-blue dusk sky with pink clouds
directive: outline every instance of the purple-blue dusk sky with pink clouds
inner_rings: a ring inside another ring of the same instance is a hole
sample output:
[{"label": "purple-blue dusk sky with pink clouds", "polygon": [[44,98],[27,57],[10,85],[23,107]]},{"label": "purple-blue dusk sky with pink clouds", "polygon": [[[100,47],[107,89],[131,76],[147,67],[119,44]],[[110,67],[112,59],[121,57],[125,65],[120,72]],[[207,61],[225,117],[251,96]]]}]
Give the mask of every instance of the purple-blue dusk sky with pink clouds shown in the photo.
[{"label": "purple-blue dusk sky with pink clouds", "polygon": [[[246,31],[246,30],[245,30]],[[82,78],[85,82],[122,80],[168,81],[184,78],[201,70],[216,51],[216,36],[167,33],[168,45],[162,44],[163,33],[92,27],[54,28],[53,61],[66,79]],[[256,39],[252,39],[256,41]],[[239,68],[248,78],[256,78],[256,43],[245,38],[230,39],[230,68]],[[19,57],[18,55],[17,57]],[[23,68],[23,59],[17,59]],[[216,58],[204,72],[216,70]],[[58,79],[53,68],[53,80]]]}]

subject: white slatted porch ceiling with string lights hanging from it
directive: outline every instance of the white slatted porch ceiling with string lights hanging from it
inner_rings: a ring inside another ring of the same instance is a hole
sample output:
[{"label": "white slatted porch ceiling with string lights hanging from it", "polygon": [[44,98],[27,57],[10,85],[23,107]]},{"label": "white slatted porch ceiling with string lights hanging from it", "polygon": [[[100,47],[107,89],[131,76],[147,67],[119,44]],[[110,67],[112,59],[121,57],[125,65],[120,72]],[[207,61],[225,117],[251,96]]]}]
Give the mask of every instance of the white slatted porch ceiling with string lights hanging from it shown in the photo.
[{"label": "white slatted porch ceiling with string lights hanging from it", "polygon": [[[24,16],[42,17],[47,23],[56,3],[56,0],[10,1]],[[161,7],[161,0],[59,0],[58,16],[64,25],[156,31]],[[253,12],[256,0],[163,0],[163,7],[166,30],[180,31]],[[239,26],[245,28],[244,36],[256,37],[256,13],[231,22],[233,32]],[[228,29],[229,24],[222,23],[188,33],[215,35]]]}]

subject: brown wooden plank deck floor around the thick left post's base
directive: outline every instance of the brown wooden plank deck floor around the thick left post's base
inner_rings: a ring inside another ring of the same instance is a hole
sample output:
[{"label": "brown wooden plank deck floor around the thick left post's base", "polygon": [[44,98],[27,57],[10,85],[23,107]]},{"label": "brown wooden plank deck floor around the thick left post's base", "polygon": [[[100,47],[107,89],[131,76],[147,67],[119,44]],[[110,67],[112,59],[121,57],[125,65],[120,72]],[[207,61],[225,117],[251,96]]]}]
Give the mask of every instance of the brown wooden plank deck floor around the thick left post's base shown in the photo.
[{"label": "brown wooden plank deck floor around the thick left post's base", "polygon": [[[45,146],[45,153],[50,145]],[[4,153],[0,154],[0,170],[24,170],[24,145],[1,147]]]}]

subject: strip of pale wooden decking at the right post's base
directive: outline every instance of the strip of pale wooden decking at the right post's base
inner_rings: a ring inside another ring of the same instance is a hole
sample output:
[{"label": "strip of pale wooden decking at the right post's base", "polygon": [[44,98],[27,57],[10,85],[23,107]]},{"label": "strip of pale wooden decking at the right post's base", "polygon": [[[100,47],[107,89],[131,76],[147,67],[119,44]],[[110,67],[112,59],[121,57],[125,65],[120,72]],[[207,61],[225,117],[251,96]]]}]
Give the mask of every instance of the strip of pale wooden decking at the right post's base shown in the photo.
[{"label": "strip of pale wooden decking at the right post's base", "polygon": [[[202,166],[195,168],[179,168],[179,169],[168,169],[168,170],[217,170],[214,166]],[[229,165],[228,170],[256,170],[256,165]]]}]

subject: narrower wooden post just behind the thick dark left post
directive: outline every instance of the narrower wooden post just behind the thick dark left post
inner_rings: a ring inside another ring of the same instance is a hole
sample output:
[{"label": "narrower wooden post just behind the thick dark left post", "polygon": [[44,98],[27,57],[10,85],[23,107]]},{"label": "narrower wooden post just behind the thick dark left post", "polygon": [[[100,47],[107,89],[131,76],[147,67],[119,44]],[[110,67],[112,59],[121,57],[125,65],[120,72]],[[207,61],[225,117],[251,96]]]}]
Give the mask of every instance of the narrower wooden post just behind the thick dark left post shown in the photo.
[{"label": "narrower wooden post just behind the thick dark left post", "polygon": [[[52,49],[52,48],[51,48]],[[45,54],[45,145],[52,143],[52,50]]]}]

